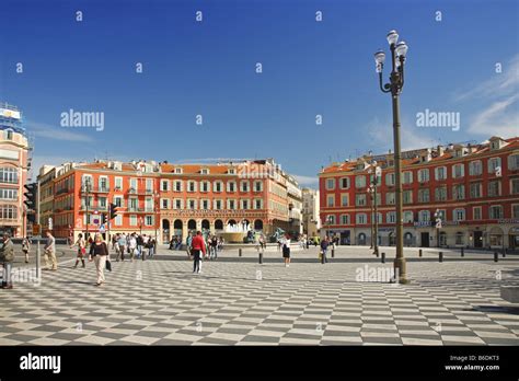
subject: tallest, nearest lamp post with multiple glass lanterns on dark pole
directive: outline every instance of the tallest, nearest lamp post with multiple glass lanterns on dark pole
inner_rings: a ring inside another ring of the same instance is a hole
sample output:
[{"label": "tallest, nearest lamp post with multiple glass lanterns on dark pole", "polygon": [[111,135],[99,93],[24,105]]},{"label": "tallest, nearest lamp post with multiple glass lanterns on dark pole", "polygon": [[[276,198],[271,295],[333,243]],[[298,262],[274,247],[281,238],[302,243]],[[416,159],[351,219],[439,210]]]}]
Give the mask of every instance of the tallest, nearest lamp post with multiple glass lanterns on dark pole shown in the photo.
[{"label": "tallest, nearest lamp post with multiple glass lanterns on dark pole", "polygon": [[394,166],[395,166],[395,198],[396,198],[396,257],[394,259],[395,274],[399,270],[399,281],[407,282],[407,270],[404,257],[404,234],[403,234],[403,207],[402,207],[402,158],[400,146],[400,102],[399,96],[404,86],[404,64],[407,54],[407,45],[399,41],[396,31],[388,33],[388,43],[391,49],[392,70],[390,82],[382,84],[382,69],[385,54],[381,50],[374,54],[377,72],[379,73],[379,85],[383,93],[391,93],[393,103],[393,141],[394,141]]}]

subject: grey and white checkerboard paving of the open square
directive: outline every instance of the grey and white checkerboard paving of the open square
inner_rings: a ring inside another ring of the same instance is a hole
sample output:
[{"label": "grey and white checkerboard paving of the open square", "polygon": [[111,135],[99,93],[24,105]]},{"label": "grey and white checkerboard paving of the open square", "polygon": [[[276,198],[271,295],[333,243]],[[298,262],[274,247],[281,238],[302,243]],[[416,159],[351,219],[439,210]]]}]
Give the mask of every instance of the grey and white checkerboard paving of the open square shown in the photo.
[{"label": "grey and white checkerboard paving of the open square", "polygon": [[113,262],[101,288],[61,266],[0,290],[0,345],[519,345],[499,297],[518,263],[410,262],[394,285],[356,281],[359,263]]}]

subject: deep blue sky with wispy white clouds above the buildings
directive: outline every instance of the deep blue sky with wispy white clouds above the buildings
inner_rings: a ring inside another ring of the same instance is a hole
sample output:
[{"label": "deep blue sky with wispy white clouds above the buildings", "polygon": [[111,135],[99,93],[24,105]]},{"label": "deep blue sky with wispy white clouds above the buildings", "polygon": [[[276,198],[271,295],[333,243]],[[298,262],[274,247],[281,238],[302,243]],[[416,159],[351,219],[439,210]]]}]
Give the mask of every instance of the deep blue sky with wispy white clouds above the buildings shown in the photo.
[{"label": "deep blue sky with wispy white clouds above the buildings", "polygon": [[[315,185],[331,160],[392,147],[391,99],[378,89],[373,61],[379,48],[389,54],[392,28],[410,45],[404,148],[517,136],[518,4],[4,0],[0,101],[22,108],[37,166],[272,157]],[[104,130],[61,127],[70,108],[103,112]],[[460,113],[460,130],[417,127],[426,108]]]}]

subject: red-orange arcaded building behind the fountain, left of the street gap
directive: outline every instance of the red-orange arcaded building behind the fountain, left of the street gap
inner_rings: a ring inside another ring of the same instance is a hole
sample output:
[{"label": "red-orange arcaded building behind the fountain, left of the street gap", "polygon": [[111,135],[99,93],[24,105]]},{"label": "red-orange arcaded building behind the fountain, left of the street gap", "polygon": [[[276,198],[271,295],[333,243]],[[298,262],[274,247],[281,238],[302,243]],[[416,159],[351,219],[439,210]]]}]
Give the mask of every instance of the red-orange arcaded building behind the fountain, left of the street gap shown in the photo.
[{"label": "red-orange arcaded building behind the fountain, left of the street gap", "polygon": [[[289,227],[288,175],[270,159],[208,165],[97,161],[53,171],[38,177],[53,190],[41,196],[39,220],[59,238],[106,238],[109,229],[168,242],[193,230],[272,233]],[[117,213],[108,226],[103,217],[111,204]]]}]

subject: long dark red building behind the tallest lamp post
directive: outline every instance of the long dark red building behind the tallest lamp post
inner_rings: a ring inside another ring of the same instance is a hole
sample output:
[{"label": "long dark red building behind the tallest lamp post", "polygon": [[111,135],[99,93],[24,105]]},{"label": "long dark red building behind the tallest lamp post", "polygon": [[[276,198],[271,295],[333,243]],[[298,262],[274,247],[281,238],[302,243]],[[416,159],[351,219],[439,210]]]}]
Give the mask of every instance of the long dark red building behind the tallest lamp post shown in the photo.
[{"label": "long dark red building behind the tallest lamp post", "polygon": [[[376,162],[376,164],[374,164]],[[334,163],[319,174],[324,234],[342,244],[370,244],[374,166],[379,244],[393,245],[395,186],[393,155]],[[450,247],[519,246],[519,138],[451,145],[403,152],[404,245]],[[436,217],[441,228],[436,228]]]}]

